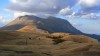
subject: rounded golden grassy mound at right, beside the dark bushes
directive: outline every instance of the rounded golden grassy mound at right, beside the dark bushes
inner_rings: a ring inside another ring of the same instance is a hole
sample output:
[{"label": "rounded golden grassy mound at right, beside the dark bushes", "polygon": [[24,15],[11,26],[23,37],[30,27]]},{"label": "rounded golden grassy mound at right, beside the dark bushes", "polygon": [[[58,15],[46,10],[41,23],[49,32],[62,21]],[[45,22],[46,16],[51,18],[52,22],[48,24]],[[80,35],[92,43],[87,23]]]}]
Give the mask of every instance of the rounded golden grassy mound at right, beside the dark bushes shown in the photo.
[{"label": "rounded golden grassy mound at right, beside the dark bushes", "polygon": [[83,36],[83,35],[73,35],[69,33],[53,33],[51,34],[51,37],[62,37],[61,39],[64,39],[66,41],[74,41],[78,43],[98,43],[98,40]]}]

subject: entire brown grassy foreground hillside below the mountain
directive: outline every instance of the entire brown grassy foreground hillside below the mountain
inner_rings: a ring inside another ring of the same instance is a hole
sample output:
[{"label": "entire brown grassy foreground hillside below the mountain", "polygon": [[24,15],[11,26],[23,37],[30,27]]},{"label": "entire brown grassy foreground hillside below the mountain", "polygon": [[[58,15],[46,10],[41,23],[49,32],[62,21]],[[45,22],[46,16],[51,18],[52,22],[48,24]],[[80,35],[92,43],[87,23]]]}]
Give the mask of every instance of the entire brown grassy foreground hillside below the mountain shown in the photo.
[{"label": "entire brown grassy foreground hillside below the mountain", "polygon": [[99,56],[99,47],[83,35],[0,31],[0,56]]}]

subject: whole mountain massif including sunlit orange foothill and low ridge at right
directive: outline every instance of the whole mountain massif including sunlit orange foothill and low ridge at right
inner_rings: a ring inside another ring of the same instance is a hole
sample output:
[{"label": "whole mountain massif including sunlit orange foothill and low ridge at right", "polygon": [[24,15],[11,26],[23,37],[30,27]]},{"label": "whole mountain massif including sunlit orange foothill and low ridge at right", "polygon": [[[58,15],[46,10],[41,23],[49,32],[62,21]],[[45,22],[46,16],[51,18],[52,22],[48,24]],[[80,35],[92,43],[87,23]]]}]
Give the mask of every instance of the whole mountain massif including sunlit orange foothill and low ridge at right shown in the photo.
[{"label": "whole mountain massif including sunlit orange foothill and low ridge at right", "polygon": [[100,36],[95,34],[85,34],[73,27],[67,20],[49,16],[40,18],[33,15],[25,15],[16,18],[0,30],[17,30],[23,32],[64,32],[78,35],[86,35],[100,41]]}]

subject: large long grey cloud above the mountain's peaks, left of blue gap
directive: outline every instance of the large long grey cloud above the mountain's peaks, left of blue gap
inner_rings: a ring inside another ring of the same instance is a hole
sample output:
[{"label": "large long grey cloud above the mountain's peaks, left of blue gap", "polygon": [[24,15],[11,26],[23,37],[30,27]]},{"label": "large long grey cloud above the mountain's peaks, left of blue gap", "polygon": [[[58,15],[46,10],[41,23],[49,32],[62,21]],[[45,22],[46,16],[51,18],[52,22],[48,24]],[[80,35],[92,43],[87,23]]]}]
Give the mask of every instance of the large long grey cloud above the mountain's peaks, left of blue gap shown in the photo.
[{"label": "large long grey cloud above the mountain's peaks, left of blue gap", "polygon": [[78,0],[10,0],[10,10],[27,13],[58,14],[73,7]]}]

